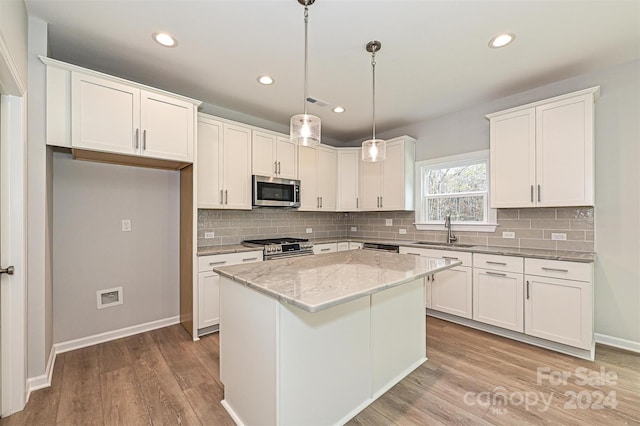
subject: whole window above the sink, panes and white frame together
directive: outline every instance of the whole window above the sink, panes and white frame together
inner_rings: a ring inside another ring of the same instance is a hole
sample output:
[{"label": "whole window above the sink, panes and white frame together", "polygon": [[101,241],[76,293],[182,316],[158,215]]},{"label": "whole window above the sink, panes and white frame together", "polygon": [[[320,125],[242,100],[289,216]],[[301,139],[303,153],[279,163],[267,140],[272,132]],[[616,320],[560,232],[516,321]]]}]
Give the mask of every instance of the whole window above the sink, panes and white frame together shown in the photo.
[{"label": "whole window above the sink, panes and white frame together", "polygon": [[442,229],[451,214],[454,229],[495,230],[495,210],[489,208],[489,151],[418,162],[416,178],[418,229]]}]

